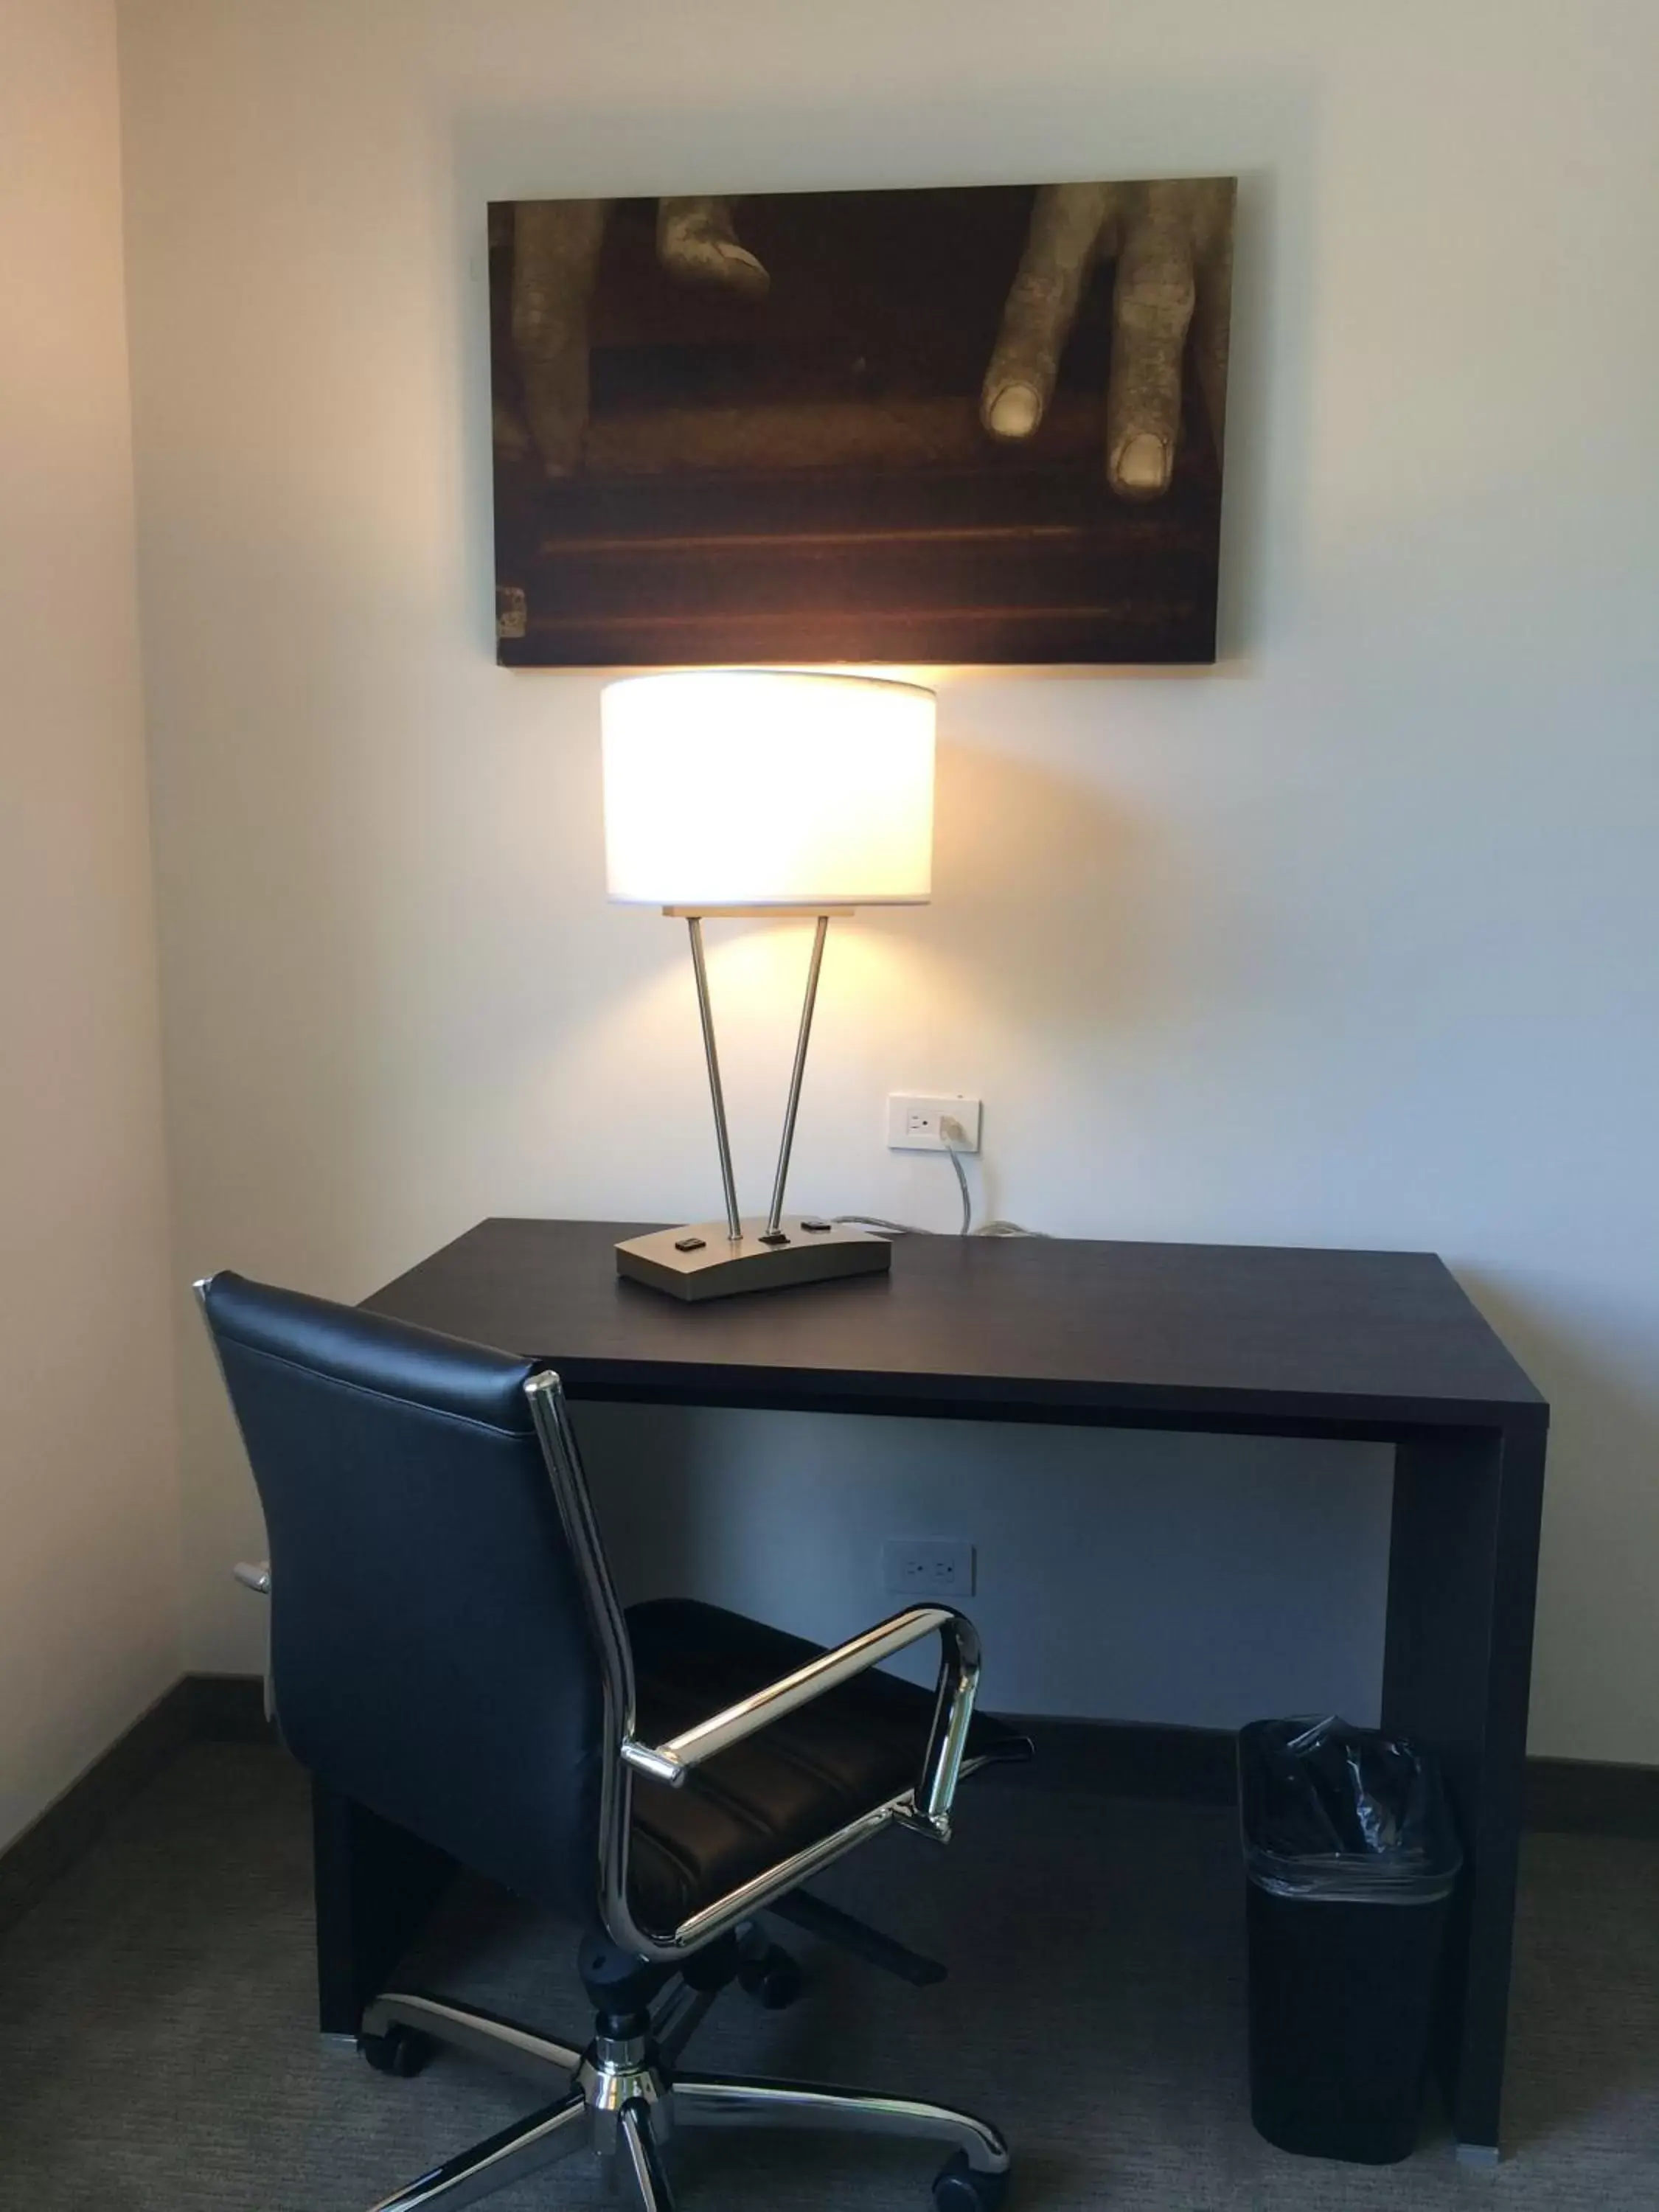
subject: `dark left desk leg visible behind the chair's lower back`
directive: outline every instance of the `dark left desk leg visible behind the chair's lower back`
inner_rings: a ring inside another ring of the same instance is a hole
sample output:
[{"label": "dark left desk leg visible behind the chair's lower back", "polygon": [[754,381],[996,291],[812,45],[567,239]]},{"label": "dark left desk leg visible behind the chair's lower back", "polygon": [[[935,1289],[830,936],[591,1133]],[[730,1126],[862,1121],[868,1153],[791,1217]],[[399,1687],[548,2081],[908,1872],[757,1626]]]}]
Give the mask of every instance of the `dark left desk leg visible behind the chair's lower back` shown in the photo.
[{"label": "dark left desk leg visible behind the chair's lower back", "polygon": [[319,2026],[356,2035],[456,1863],[316,1778],[312,1854]]}]

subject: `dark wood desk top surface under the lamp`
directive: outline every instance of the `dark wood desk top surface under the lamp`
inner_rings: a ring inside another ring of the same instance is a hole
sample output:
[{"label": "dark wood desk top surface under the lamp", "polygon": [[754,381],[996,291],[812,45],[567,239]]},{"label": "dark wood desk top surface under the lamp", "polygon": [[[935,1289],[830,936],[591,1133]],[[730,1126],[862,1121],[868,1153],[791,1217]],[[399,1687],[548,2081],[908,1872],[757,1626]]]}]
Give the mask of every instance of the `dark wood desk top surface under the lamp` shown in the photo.
[{"label": "dark wood desk top surface under the lamp", "polygon": [[573,1398],[1385,1433],[1548,1409],[1431,1252],[907,1237],[891,1274],[681,1305],[648,1223],[480,1221],[365,1301]]}]

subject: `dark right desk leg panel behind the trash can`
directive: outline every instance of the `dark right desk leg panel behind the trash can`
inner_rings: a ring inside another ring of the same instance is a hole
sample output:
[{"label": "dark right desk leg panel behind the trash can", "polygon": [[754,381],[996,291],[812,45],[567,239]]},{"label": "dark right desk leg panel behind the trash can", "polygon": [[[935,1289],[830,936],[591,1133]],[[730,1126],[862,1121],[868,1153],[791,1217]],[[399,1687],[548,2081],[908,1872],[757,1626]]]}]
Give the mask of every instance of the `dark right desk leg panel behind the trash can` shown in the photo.
[{"label": "dark right desk leg panel behind the trash can", "polygon": [[1473,2161],[1498,2157],[1542,1504],[1542,1429],[1396,1449],[1383,1725],[1440,1756],[1462,1834],[1438,2070]]}]

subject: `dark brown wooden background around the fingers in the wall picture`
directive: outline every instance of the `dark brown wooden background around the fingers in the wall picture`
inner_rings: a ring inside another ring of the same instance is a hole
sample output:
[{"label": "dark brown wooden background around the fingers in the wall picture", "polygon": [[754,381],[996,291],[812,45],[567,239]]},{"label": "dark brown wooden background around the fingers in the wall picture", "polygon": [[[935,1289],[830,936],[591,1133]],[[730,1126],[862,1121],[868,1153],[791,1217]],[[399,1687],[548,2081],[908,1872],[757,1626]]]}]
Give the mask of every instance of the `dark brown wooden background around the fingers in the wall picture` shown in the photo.
[{"label": "dark brown wooden background around the fingers in the wall picture", "polygon": [[757,301],[670,283],[657,201],[617,201],[562,476],[526,427],[515,210],[493,208],[500,659],[1214,659],[1219,440],[1188,374],[1168,491],[1108,487],[1110,263],[1040,429],[980,420],[1031,208],[1031,188],[743,199]]}]

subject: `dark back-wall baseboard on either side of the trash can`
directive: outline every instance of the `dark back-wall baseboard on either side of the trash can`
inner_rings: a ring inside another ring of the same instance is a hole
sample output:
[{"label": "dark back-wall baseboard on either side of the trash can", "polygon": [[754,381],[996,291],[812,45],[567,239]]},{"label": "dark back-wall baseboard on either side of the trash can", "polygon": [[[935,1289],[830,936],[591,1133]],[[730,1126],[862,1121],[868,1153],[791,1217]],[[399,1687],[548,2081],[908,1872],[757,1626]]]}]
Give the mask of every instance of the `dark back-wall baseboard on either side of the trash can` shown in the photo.
[{"label": "dark back-wall baseboard on either side of the trash can", "polygon": [[[1026,1790],[1084,1790],[1097,1796],[1170,1798],[1232,1805],[1234,1736],[1225,1728],[1170,1728],[1155,1721],[1013,1723],[1037,1747],[1029,1767],[987,1767]],[[1659,1838],[1659,1767],[1597,1759],[1528,1759],[1526,1827],[1573,1836]]]}]

